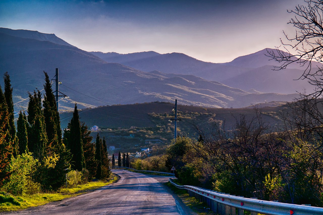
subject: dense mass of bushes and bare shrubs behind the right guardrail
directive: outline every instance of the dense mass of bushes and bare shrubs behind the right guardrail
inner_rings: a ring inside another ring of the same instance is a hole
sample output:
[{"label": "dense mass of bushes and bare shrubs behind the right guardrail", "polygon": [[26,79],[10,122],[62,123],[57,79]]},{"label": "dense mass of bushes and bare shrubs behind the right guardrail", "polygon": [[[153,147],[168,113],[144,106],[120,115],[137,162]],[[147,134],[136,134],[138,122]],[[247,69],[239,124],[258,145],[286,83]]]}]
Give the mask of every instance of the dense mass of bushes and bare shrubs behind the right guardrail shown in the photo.
[{"label": "dense mass of bushes and bare shrubs behind the right guardrail", "polygon": [[154,171],[174,166],[181,184],[322,207],[322,112],[312,99],[293,102],[288,110],[277,113],[283,122],[279,129],[257,108],[255,117],[240,115],[233,127],[218,121],[207,130],[196,126],[194,138],[178,136],[165,155],[131,165]]}]

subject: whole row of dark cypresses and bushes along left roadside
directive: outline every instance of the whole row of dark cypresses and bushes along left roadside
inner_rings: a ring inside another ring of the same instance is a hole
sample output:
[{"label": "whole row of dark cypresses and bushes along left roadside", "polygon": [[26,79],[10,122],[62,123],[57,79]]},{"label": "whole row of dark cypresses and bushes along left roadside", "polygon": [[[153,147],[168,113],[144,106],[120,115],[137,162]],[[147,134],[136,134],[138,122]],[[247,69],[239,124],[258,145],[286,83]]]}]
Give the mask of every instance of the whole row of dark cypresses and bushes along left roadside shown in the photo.
[{"label": "whole row of dark cypresses and bushes along left roadside", "polygon": [[29,93],[27,115],[19,112],[15,127],[13,88],[4,74],[0,86],[0,188],[15,195],[60,188],[65,174],[78,171],[82,181],[107,178],[110,160],[105,138],[99,134],[92,143],[90,131],[79,120],[77,104],[68,127],[60,128],[60,118],[51,82],[44,71],[45,93]]}]

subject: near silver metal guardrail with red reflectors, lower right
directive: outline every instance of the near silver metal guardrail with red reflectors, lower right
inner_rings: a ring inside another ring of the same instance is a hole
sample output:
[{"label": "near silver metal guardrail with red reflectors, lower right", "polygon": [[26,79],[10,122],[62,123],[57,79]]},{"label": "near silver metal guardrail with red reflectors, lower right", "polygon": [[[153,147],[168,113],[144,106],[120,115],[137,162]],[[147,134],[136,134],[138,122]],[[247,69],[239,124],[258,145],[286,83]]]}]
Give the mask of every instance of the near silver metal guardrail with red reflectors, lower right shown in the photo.
[{"label": "near silver metal guardrail with red reflectors, lower right", "polygon": [[181,186],[174,183],[172,179],[169,179],[169,181],[177,188],[188,190],[190,196],[207,203],[210,210],[221,215],[243,215],[244,210],[250,211],[251,215],[256,215],[257,213],[268,215],[323,214],[323,208],[249,199],[194,186]]}]

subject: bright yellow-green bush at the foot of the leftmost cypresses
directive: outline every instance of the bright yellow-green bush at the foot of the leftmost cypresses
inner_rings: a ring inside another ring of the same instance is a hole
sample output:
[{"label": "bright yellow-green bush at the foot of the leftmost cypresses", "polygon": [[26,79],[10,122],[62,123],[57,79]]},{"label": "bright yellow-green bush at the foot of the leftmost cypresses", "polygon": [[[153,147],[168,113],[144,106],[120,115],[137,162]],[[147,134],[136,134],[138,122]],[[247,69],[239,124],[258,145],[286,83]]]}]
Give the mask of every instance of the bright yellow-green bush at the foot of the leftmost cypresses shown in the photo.
[{"label": "bright yellow-green bush at the foot of the leftmost cypresses", "polygon": [[5,181],[3,188],[14,195],[38,193],[40,184],[32,179],[38,165],[38,160],[34,159],[31,153],[17,155],[17,158],[12,157],[8,167],[8,171],[12,174]]}]

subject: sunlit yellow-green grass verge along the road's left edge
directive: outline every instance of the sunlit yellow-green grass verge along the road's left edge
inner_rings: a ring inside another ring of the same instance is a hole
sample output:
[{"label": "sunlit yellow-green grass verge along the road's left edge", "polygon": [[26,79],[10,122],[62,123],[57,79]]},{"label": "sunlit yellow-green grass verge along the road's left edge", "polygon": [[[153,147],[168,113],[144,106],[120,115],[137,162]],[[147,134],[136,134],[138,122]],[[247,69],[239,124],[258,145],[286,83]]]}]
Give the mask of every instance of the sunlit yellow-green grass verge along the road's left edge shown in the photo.
[{"label": "sunlit yellow-green grass verge along the road's left edge", "polygon": [[23,210],[29,207],[44,205],[51,201],[60,201],[65,198],[78,196],[80,194],[98,189],[105,185],[114,183],[118,180],[118,176],[111,174],[109,180],[91,181],[86,184],[78,185],[75,188],[61,188],[57,192],[37,193],[28,196],[13,196],[9,193],[0,192],[0,212],[11,210]]}]

